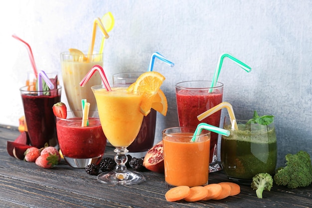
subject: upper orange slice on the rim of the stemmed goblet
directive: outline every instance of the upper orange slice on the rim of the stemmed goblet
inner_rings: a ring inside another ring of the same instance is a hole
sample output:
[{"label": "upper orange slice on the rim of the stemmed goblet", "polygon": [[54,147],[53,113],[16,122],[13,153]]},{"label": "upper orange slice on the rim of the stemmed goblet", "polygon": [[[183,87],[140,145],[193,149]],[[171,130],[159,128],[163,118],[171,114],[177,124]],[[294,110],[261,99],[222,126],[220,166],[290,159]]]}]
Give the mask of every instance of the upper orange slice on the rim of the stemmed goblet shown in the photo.
[{"label": "upper orange slice on the rim of the stemmed goblet", "polygon": [[159,72],[148,71],[141,74],[137,81],[128,88],[128,91],[135,91],[143,95],[140,112],[144,116],[151,112],[154,97],[164,80],[164,76]]}]

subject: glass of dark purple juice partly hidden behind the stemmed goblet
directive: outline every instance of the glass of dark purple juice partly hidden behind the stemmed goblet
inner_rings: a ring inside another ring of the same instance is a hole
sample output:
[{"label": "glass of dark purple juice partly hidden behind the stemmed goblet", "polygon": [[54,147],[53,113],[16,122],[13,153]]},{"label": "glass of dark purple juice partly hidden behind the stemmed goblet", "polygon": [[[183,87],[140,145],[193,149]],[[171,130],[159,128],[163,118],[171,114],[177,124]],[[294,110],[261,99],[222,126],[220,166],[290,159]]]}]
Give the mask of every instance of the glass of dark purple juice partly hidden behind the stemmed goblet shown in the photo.
[{"label": "glass of dark purple juice partly hidden behind the stemmed goblet", "polygon": [[[114,84],[132,84],[144,72],[122,72],[113,75]],[[132,157],[144,157],[154,145],[156,128],[156,110],[151,109],[148,116],[143,118],[140,132],[135,141],[127,148]]]}]

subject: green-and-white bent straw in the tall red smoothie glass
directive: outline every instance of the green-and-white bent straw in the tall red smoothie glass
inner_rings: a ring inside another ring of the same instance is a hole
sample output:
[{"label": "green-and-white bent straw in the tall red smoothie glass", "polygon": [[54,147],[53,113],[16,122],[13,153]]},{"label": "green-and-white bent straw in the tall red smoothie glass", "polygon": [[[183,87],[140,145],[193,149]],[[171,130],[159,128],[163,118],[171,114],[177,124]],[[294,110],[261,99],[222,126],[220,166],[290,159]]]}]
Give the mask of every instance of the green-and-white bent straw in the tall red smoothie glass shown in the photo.
[{"label": "green-and-white bent straw in the tall red smoothie glass", "polygon": [[209,89],[209,92],[212,92],[212,87],[215,87],[219,78],[219,74],[221,71],[221,67],[222,67],[222,63],[223,63],[223,59],[225,57],[230,58],[231,60],[234,61],[234,63],[236,63],[237,65],[239,65],[242,69],[244,69],[245,71],[247,71],[248,73],[251,71],[251,67],[248,66],[247,64],[243,63],[242,61],[238,60],[237,58],[235,58],[234,56],[228,54],[228,53],[224,53],[222,55],[220,55],[219,60],[218,60],[218,64],[216,67],[216,70],[214,72],[213,78],[212,78],[212,82],[211,82],[211,89]]}]

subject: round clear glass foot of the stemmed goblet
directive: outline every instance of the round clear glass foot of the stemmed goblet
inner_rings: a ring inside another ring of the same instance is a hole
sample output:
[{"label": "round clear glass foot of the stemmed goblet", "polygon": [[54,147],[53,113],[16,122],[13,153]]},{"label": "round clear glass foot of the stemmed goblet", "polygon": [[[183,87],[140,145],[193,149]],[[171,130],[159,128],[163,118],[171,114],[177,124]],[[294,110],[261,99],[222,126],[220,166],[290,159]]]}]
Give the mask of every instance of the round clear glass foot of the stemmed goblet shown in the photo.
[{"label": "round clear glass foot of the stemmed goblet", "polygon": [[141,173],[126,170],[101,173],[97,176],[97,180],[109,185],[133,185],[144,182],[145,177]]}]

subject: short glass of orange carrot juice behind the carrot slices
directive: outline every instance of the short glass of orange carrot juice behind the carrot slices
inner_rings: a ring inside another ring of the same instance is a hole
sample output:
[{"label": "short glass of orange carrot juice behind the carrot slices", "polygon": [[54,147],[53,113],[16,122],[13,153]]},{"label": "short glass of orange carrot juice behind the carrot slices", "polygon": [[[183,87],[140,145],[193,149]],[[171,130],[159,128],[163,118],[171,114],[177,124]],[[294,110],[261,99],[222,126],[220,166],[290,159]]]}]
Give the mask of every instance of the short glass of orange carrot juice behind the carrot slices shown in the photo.
[{"label": "short glass of orange carrot juice behind the carrot slices", "polygon": [[195,127],[173,127],[162,131],[164,178],[168,188],[208,184],[210,131],[202,130],[191,142]]}]

